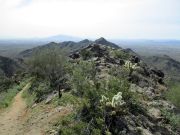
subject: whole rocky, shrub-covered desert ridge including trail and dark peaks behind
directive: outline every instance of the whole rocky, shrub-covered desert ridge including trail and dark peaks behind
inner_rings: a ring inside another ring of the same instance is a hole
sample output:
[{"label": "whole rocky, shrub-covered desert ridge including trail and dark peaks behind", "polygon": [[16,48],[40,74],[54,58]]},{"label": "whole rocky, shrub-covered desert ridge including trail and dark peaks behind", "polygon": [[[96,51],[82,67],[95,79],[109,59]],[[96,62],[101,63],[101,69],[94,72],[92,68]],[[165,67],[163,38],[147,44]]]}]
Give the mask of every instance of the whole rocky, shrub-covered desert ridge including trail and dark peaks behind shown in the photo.
[{"label": "whole rocky, shrub-covered desert ridge including trail and dark peaks behind", "polygon": [[165,74],[130,49],[100,38],[53,42],[16,58],[23,68],[1,90],[2,135],[180,133]]}]

